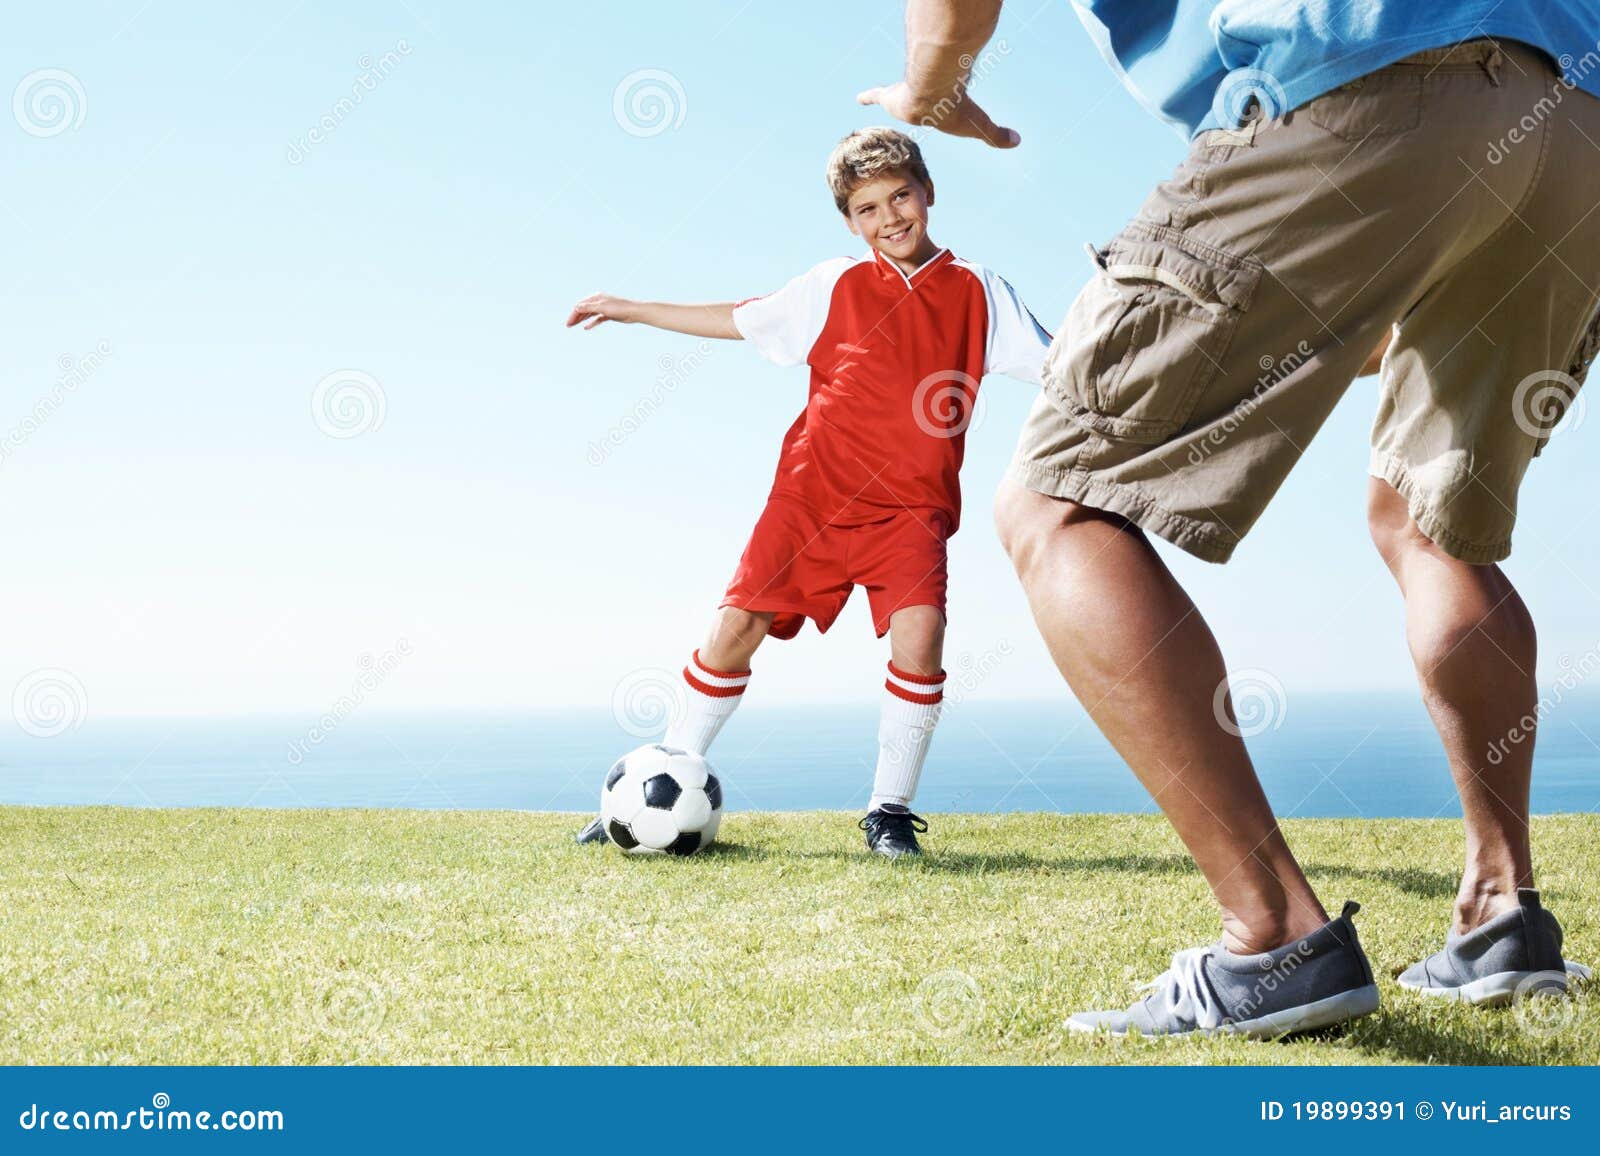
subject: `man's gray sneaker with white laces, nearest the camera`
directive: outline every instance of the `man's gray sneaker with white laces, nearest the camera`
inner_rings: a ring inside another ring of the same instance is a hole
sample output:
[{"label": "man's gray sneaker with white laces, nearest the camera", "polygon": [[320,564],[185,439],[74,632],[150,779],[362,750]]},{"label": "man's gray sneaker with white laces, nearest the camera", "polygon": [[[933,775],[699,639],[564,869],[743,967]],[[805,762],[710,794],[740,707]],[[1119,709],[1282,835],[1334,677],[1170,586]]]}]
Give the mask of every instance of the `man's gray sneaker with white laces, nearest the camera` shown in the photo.
[{"label": "man's gray sneaker with white laces, nearest the camera", "polygon": [[1126,1036],[1216,1036],[1237,1033],[1270,1039],[1326,1028],[1378,1010],[1378,985],[1346,903],[1302,940],[1259,956],[1235,956],[1211,943],[1173,956],[1152,994],[1125,1012],[1078,1012],[1072,1031]]}]

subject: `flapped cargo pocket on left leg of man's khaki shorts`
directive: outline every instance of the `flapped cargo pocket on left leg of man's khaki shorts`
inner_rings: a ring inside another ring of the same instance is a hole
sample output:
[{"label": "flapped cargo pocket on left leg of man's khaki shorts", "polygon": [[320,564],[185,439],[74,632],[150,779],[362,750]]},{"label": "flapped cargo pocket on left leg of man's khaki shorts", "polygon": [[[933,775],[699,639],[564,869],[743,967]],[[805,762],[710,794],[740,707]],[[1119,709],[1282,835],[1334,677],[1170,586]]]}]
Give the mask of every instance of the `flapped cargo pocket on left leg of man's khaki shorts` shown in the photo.
[{"label": "flapped cargo pocket on left leg of man's khaki shorts", "polygon": [[1261,263],[1134,223],[1104,250],[1045,360],[1045,391],[1106,437],[1157,444],[1194,415]]}]

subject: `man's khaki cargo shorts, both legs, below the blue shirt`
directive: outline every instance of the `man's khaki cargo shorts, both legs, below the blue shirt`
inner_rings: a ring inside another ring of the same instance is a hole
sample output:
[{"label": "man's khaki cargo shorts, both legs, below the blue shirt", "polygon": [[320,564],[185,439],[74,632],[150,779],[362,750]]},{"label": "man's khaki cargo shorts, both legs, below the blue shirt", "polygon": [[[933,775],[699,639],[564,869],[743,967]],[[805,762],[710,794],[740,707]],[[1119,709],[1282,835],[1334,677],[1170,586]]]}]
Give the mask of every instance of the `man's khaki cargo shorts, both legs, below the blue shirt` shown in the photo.
[{"label": "man's khaki cargo shorts, both legs, below the blue shirt", "polygon": [[1198,136],[1104,248],[1011,477],[1226,562],[1368,354],[1371,474],[1466,562],[1600,347],[1600,99],[1514,42]]}]

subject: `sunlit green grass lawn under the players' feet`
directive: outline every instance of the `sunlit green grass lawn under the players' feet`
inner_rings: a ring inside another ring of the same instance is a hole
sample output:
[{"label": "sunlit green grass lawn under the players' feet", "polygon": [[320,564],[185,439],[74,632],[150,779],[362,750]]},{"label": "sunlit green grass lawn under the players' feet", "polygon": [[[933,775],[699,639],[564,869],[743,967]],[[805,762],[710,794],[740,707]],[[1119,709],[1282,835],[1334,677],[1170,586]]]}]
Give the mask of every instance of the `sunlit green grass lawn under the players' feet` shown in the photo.
[{"label": "sunlit green grass lawn under the players' feet", "polygon": [[[1306,820],[1358,898],[1382,1010],[1288,1042],[1109,1041],[1216,935],[1166,825],[934,817],[869,858],[853,817],[733,815],[691,860],[579,849],[571,815],[0,809],[3,1063],[1595,1063],[1600,999],[1472,1010],[1392,977],[1443,938],[1461,826]],[[1534,823],[1568,954],[1600,961],[1600,818]]]}]

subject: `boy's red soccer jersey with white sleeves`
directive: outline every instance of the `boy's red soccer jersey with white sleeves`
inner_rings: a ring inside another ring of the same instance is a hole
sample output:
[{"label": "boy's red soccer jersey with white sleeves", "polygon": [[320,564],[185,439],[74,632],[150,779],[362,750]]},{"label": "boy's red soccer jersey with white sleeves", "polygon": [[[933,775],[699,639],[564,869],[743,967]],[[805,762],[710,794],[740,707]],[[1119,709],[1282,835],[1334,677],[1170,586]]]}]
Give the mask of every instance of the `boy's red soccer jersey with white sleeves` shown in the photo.
[{"label": "boy's red soccer jersey with white sleeves", "polygon": [[997,274],[941,250],[914,274],[874,251],[835,258],[733,311],[778,365],[811,367],[771,496],[829,525],[906,509],[960,522],[958,474],[986,373],[1038,384],[1050,333]]}]

